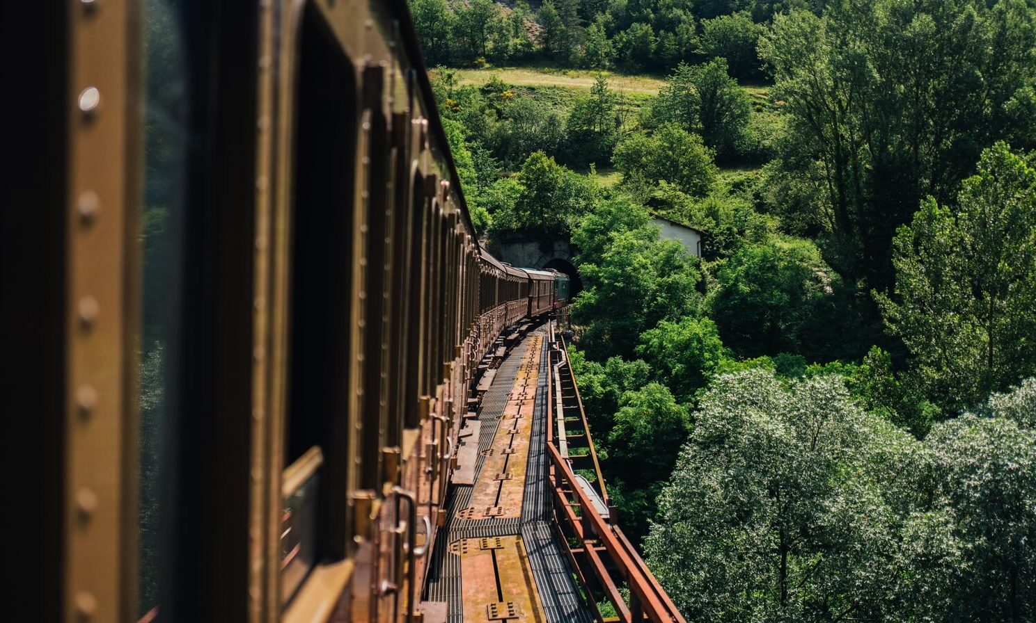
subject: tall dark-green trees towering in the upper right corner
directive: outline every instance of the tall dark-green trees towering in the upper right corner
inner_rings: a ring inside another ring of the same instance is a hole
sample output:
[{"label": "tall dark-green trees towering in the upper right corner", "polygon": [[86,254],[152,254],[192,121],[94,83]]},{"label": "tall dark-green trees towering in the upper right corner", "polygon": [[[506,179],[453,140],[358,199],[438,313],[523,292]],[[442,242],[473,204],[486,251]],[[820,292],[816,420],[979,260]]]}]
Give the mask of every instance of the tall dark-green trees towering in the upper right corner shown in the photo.
[{"label": "tall dark-green trees towering in the upper right corner", "polygon": [[[838,1],[774,18],[759,54],[786,102],[781,159],[814,184],[827,261],[887,291],[891,244],[921,198],[946,205],[1029,101],[1024,1]],[[1032,137],[1028,138],[1031,143]]]}]

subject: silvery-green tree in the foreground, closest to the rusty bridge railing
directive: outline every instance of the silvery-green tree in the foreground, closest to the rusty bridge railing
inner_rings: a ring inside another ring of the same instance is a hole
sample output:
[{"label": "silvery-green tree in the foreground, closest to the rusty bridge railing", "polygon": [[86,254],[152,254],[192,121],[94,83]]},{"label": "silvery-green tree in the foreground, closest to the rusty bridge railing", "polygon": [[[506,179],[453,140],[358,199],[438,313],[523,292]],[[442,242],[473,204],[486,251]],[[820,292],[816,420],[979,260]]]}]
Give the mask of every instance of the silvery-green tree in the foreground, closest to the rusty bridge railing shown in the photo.
[{"label": "silvery-green tree in the foreground, closest to the rusty bridge railing", "polygon": [[898,470],[916,441],[837,376],[724,375],[691,419],[644,544],[688,620],[893,620]]}]

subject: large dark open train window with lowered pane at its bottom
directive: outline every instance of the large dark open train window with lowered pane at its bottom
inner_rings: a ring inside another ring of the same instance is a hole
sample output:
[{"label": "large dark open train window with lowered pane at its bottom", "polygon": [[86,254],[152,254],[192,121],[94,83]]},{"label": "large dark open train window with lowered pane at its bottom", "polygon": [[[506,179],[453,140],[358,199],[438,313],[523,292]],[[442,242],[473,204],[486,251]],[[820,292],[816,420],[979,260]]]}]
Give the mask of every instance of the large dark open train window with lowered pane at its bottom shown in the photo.
[{"label": "large dark open train window with lowered pane at its bottom", "polygon": [[284,445],[284,483],[294,488],[282,492],[284,601],[316,562],[340,559],[346,547],[356,87],[312,4],[303,12],[297,71]]}]

